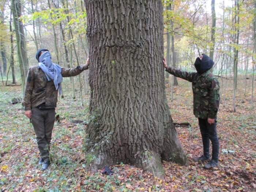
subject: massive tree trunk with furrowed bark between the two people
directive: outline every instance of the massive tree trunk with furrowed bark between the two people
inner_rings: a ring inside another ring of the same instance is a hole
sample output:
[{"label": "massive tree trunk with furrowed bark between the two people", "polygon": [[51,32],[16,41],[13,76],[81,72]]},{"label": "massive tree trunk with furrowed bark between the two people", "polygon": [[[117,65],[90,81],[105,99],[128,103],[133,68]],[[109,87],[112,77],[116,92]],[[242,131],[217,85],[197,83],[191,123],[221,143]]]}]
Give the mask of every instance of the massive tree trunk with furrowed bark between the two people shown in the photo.
[{"label": "massive tree trunk with furrowed bark between the two people", "polygon": [[163,176],[161,160],[184,165],[165,95],[162,1],[84,1],[91,168],[123,162]]}]

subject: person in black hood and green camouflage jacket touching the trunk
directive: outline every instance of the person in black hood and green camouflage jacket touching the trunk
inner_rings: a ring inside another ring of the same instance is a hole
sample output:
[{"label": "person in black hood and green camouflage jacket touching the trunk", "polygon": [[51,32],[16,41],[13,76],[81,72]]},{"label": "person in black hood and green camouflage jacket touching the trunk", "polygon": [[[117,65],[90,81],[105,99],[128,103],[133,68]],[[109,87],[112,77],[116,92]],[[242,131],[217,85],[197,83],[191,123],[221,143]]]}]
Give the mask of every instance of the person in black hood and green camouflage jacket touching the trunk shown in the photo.
[{"label": "person in black hood and green camouflage jacket touching the trunk", "polygon": [[219,82],[210,72],[214,62],[206,54],[196,58],[197,72],[186,72],[168,67],[163,58],[165,71],[170,74],[192,82],[193,113],[198,118],[203,141],[203,155],[193,158],[194,161],[207,161],[210,159],[210,140],[212,142],[212,159],[204,165],[210,169],[218,165],[219,140],[217,136],[217,112],[219,108]]}]

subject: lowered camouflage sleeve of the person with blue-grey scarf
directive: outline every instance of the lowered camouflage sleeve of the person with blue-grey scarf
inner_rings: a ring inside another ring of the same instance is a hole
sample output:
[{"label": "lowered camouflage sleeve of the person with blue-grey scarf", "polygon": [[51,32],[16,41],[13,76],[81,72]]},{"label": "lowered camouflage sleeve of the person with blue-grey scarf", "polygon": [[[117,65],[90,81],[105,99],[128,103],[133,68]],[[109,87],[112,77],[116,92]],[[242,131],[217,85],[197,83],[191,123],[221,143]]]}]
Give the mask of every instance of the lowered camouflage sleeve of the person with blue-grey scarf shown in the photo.
[{"label": "lowered camouflage sleeve of the person with blue-grey scarf", "polygon": [[31,110],[31,94],[33,92],[33,88],[34,88],[34,71],[30,68],[27,73],[24,97],[22,99],[24,110]]}]

